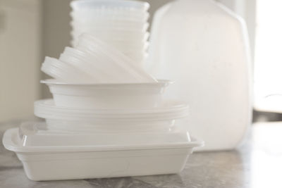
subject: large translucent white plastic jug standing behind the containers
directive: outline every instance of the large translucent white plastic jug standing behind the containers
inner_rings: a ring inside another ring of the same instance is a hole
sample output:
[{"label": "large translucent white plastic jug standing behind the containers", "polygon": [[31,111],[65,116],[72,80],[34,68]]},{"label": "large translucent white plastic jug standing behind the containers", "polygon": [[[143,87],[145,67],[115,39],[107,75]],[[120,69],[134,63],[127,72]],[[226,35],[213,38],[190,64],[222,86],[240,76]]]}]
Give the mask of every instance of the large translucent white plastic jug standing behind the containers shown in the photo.
[{"label": "large translucent white plastic jug standing behind the containers", "polygon": [[214,1],[173,1],[154,15],[147,68],[175,81],[167,96],[190,104],[188,130],[202,150],[233,149],[250,125],[248,42],[244,21]]}]

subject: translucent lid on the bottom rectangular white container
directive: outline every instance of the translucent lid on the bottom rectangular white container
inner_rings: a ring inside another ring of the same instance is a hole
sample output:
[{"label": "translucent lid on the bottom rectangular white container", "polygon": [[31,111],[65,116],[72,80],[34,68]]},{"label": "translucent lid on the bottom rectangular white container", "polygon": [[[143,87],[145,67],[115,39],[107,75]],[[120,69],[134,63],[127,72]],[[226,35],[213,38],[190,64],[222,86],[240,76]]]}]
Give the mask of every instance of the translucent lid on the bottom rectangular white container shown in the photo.
[{"label": "translucent lid on the bottom rectangular white container", "polygon": [[23,123],[18,130],[18,144],[26,147],[152,146],[156,144],[187,144],[190,141],[190,135],[185,131],[127,134],[69,133],[49,131],[46,123]]}]

